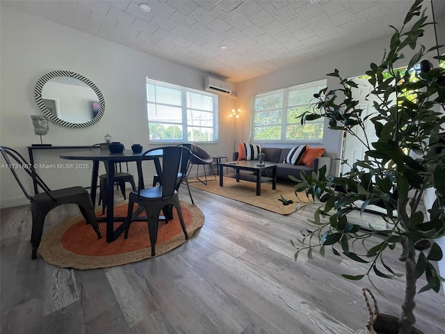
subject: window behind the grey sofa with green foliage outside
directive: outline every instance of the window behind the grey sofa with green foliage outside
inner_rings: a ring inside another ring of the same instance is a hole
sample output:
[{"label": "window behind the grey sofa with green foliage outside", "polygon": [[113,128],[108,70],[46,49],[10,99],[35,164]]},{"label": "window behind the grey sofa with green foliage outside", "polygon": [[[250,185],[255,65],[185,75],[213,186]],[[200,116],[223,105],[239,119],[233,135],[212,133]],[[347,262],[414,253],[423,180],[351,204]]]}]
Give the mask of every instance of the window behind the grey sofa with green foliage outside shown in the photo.
[{"label": "window behind the grey sofa with green foliage outside", "polygon": [[323,118],[301,125],[302,113],[311,108],[314,93],[326,80],[274,90],[253,97],[253,141],[314,141],[323,139]]}]

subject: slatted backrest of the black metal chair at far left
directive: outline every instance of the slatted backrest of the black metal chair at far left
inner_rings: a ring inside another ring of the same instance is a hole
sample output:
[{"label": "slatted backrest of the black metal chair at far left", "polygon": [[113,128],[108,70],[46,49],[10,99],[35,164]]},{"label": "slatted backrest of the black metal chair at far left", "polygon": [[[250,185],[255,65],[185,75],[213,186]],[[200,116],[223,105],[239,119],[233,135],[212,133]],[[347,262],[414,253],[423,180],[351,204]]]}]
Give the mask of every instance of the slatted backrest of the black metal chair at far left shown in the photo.
[{"label": "slatted backrest of the black metal chair at far left", "polygon": [[[20,154],[13,148],[8,148],[6,146],[0,146],[0,152],[1,152],[1,155],[3,155],[3,159],[5,159],[5,161],[6,161],[6,168],[8,168],[13,173],[15,180],[19,184],[20,189],[22,189],[26,198],[31,200],[32,196],[29,195],[29,193],[26,191],[25,187],[23,186],[22,182],[20,181],[19,175],[17,175],[16,169],[24,170],[26,172],[26,174],[28,174],[34,180],[35,184],[40,186],[40,188],[45,193],[47,193],[51,199],[56,200],[56,198],[51,196],[51,193],[49,193],[49,191],[51,191],[51,189],[49,189],[49,186],[47,186],[47,184],[45,184],[43,182],[42,178],[37,173],[35,173],[33,166],[31,166],[31,164],[29,164],[29,162],[26,161],[26,159],[22,156],[22,154]],[[10,158],[13,159],[13,162],[11,162]]]}]

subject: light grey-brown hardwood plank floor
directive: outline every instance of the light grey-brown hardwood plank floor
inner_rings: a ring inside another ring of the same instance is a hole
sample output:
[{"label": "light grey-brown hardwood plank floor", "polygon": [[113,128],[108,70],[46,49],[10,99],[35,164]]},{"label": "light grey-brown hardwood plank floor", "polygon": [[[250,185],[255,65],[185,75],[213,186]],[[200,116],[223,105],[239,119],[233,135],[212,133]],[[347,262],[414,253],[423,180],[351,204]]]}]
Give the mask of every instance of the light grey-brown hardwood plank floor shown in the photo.
[{"label": "light grey-brown hardwood plank floor", "polygon": [[[111,269],[74,270],[31,260],[29,207],[1,210],[1,333],[346,334],[366,324],[362,287],[341,273],[364,266],[326,252],[293,260],[290,239],[300,237],[313,207],[289,216],[192,189],[204,227],[184,245],[154,259]],[[190,201],[185,187],[181,200]],[[72,205],[54,209],[44,231]],[[363,221],[375,219],[365,214]],[[362,222],[363,223],[363,222]],[[375,237],[375,242],[378,237]],[[388,263],[398,272],[396,253]],[[398,315],[402,279],[375,278],[382,312]],[[419,287],[425,282],[421,280]],[[444,333],[445,297],[416,296],[417,326]]]}]

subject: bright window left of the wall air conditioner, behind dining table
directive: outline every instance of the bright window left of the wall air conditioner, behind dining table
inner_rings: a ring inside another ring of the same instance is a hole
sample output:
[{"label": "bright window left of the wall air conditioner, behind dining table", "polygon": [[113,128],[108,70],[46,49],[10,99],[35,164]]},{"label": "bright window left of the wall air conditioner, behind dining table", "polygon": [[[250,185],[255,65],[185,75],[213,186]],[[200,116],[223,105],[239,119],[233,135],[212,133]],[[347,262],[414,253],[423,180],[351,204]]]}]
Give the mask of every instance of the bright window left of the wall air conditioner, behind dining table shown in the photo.
[{"label": "bright window left of the wall air conditioner, behind dining table", "polygon": [[147,78],[152,142],[217,142],[218,95]]}]

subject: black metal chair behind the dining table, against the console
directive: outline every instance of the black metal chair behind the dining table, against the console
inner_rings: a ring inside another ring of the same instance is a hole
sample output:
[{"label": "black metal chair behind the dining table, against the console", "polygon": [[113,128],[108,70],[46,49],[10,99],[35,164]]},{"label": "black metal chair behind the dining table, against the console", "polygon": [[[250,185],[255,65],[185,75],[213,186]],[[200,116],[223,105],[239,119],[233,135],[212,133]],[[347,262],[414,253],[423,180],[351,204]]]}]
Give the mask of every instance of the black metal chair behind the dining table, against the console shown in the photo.
[{"label": "black metal chair behind the dining table, against the console", "polygon": [[[92,145],[91,148],[100,148],[101,150],[108,150],[108,144],[99,143]],[[106,164],[105,164],[105,170],[106,174],[102,174],[99,176],[99,205],[102,202],[102,214],[105,213],[106,203],[107,203],[106,184],[108,181],[108,170]],[[127,194],[125,193],[125,182],[131,184],[131,189],[133,189],[133,191],[136,191],[136,184],[134,182],[134,177],[131,173],[122,172],[122,166],[120,164],[115,164],[115,170],[116,170],[114,174],[115,183],[118,185],[120,192],[122,193],[122,196],[124,196],[124,200],[126,200]],[[128,166],[127,166],[127,172],[128,172]]]}]

